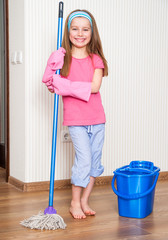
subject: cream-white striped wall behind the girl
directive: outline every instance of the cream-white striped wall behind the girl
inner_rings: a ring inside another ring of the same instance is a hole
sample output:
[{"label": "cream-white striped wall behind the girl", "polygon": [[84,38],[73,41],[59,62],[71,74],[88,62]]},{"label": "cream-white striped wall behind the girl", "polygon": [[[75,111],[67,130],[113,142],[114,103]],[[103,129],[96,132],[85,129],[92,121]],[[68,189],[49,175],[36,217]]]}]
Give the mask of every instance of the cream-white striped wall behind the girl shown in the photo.
[{"label": "cream-white striped wall behind the girl", "polygon": [[[9,2],[10,51],[19,47],[24,52],[24,63],[11,65],[11,176],[25,182],[47,181],[53,95],[41,79],[48,56],[56,49],[58,0]],[[104,175],[131,160],[150,160],[168,171],[168,1],[64,3],[64,20],[77,8],[93,13],[109,64],[101,88],[107,117]],[[61,142],[62,107],[60,98],[56,179],[70,178],[74,156],[72,143]]]}]

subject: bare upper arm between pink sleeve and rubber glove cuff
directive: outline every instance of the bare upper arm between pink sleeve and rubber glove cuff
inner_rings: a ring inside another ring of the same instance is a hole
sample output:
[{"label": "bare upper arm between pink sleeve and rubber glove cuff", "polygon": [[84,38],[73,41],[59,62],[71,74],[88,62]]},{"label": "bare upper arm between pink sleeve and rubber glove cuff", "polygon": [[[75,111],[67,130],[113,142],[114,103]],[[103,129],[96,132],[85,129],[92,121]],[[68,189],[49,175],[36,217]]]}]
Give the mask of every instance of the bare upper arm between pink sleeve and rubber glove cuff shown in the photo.
[{"label": "bare upper arm between pink sleeve and rubber glove cuff", "polygon": [[103,78],[103,69],[95,69],[93,80],[91,83],[91,93],[98,93],[101,87]]}]

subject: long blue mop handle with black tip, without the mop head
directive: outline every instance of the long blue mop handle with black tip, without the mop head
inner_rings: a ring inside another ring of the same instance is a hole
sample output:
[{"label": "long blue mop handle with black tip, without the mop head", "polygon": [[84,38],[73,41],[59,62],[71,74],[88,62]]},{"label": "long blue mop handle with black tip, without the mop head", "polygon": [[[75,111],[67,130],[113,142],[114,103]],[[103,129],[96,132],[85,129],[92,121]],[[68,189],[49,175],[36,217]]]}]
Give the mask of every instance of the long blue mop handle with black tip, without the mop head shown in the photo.
[{"label": "long blue mop handle with black tip, without the mop head", "polygon": [[[61,47],[61,44],[62,44],[62,25],[63,25],[63,2],[59,2],[57,50]],[[57,70],[56,74],[60,74],[60,70]],[[53,198],[54,198],[53,195],[54,195],[55,158],[56,158],[56,144],[57,144],[58,105],[59,105],[59,95],[54,94],[49,207],[53,206]]]}]

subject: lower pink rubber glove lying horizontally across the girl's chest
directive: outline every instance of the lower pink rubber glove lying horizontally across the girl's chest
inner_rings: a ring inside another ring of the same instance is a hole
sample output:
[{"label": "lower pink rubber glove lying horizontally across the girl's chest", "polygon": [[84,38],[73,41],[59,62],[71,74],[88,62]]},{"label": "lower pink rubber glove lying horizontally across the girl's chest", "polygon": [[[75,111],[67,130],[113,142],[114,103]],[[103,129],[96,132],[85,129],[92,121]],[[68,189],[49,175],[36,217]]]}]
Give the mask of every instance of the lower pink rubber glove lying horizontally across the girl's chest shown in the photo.
[{"label": "lower pink rubber glove lying horizontally across the girl's chest", "polygon": [[60,75],[53,75],[52,86],[58,95],[79,98],[86,102],[89,101],[91,94],[91,82],[72,82]]}]

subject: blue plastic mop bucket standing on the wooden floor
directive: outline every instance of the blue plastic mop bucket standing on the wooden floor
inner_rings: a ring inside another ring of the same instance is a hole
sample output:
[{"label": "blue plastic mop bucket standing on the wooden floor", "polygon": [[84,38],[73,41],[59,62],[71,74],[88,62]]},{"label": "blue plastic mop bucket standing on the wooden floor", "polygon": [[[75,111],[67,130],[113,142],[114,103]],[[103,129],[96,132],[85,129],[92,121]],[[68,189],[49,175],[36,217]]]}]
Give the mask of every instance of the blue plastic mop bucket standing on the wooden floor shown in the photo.
[{"label": "blue plastic mop bucket standing on the wooden floor", "polygon": [[[132,161],[114,171],[112,189],[122,217],[145,218],[153,211],[160,168],[149,161]],[[116,180],[117,189],[114,186]]]}]

